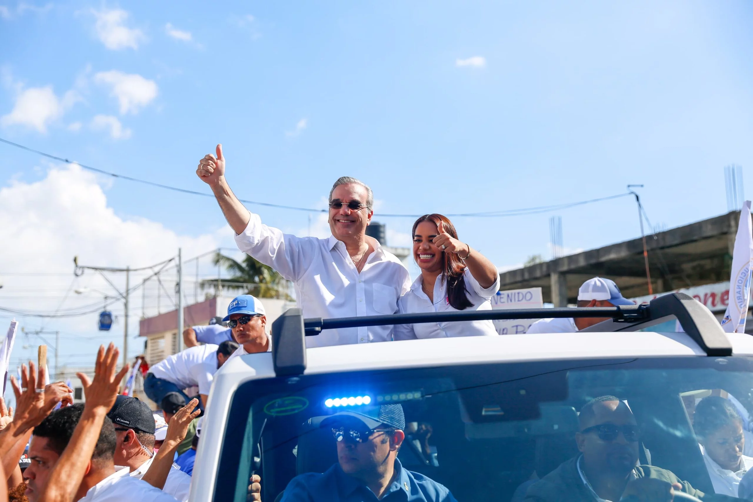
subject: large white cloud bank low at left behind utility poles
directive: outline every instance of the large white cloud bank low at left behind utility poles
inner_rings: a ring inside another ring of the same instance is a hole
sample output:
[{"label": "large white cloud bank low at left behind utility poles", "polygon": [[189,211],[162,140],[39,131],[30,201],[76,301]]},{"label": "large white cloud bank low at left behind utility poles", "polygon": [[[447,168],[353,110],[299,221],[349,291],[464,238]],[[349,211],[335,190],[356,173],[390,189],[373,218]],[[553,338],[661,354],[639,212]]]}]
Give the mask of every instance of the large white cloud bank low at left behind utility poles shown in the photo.
[{"label": "large white cloud bank low at left behind utility poles", "polygon": [[[74,294],[74,288],[90,288],[115,296],[114,290],[94,272],[85,272],[75,278],[72,273],[74,256],[79,257],[79,263],[86,265],[139,267],[174,257],[178,247],[183,249],[186,259],[221,245],[232,245],[232,231],[226,226],[216,232],[187,236],[179,235],[157,221],[125,217],[119,211],[116,214],[108,205],[96,175],[75,165],[53,166],[39,181],[11,181],[8,186],[0,187],[0,221],[4,222],[6,235],[13,236],[12,245],[0,246],[0,260],[7,265],[0,276],[4,286],[0,289],[0,303],[13,309],[50,312],[60,308],[66,311],[92,304],[94,309],[101,308],[101,295]],[[210,259],[203,260],[202,267],[210,266]],[[203,274],[209,275],[212,271],[216,271],[216,267],[206,271],[202,268]],[[34,276],[20,275],[32,272]],[[36,275],[39,273],[53,275]],[[145,272],[132,272],[131,287],[138,285],[144,277]],[[108,278],[123,290],[124,274],[108,274]],[[174,291],[175,269],[163,275],[162,280],[168,291]],[[191,277],[186,280],[191,281]],[[146,313],[154,315],[157,313],[157,283],[152,280],[149,284]],[[66,291],[69,295],[63,302]],[[192,302],[193,286],[187,287],[186,291],[187,300]],[[163,293],[162,312],[172,308]],[[70,357],[78,360],[85,357],[86,364],[90,365],[99,343],[110,339],[116,343],[123,340],[123,303],[114,303],[110,309],[119,317],[111,332],[96,331],[97,312],[45,321],[16,317],[26,330],[46,324],[48,330],[61,331],[61,342],[66,340],[60,349],[61,365],[71,361]],[[131,295],[131,309],[130,333],[135,336],[142,313],[141,291]],[[7,312],[0,312],[3,322],[12,317]],[[82,340],[82,336],[98,338],[93,342],[90,338]],[[39,339],[30,339],[29,343],[38,344]],[[18,357],[25,354],[22,345],[19,342],[15,345],[14,365]],[[143,339],[131,338],[130,354],[138,354],[142,347]],[[36,347],[33,353],[36,353]]]}]

